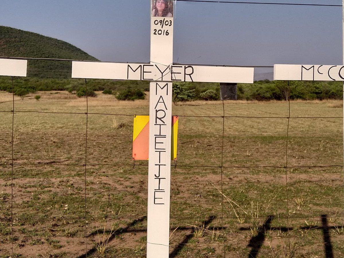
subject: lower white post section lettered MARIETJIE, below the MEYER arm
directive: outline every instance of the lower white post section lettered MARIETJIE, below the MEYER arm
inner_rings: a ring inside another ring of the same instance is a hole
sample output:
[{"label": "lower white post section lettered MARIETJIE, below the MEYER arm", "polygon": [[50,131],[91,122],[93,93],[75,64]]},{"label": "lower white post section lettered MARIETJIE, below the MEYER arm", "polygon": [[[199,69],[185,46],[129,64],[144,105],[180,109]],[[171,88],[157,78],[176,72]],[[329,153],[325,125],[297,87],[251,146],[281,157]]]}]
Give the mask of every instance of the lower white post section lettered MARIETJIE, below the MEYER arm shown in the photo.
[{"label": "lower white post section lettered MARIETJIE, below the MEYER arm", "polygon": [[168,258],[170,235],[172,83],[151,82],[147,257]]}]

